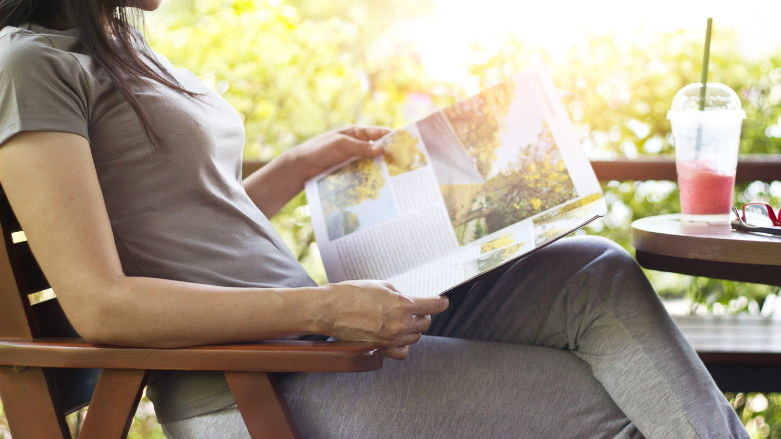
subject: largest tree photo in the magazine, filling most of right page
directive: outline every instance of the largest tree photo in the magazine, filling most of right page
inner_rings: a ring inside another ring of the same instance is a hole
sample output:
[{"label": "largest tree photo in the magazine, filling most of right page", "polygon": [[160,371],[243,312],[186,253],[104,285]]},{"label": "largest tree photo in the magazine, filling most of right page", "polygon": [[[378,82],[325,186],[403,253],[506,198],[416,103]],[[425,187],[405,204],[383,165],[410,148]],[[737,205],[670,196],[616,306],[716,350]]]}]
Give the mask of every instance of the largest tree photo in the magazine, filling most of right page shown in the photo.
[{"label": "largest tree photo in the magazine, filling most of right page", "polygon": [[459,244],[577,196],[523,77],[436,112],[417,128]]}]

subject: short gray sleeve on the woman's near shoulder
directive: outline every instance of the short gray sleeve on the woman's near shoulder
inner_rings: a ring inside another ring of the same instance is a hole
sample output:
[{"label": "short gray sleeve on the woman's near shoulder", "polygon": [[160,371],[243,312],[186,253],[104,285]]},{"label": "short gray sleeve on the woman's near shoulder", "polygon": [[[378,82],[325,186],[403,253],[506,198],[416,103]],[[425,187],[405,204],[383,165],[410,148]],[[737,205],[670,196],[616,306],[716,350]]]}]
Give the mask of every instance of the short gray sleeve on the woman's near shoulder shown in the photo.
[{"label": "short gray sleeve on the woman's near shoulder", "polygon": [[0,145],[21,131],[89,140],[89,90],[78,60],[41,34],[0,34]]}]

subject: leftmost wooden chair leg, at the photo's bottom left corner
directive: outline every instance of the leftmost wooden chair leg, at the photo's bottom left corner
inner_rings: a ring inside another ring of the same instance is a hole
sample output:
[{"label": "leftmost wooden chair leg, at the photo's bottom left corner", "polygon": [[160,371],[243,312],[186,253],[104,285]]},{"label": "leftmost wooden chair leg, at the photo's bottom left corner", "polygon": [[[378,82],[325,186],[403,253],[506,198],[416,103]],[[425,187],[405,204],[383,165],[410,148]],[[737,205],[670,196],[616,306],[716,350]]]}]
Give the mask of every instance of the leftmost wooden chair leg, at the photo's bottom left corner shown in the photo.
[{"label": "leftmost wooden chair leg, at the photo's bottom left corner", "polygon": [[70,439],[59,398],[50,387],[47,373],[40,367],[0,366],[0,398],[14,439]]}]

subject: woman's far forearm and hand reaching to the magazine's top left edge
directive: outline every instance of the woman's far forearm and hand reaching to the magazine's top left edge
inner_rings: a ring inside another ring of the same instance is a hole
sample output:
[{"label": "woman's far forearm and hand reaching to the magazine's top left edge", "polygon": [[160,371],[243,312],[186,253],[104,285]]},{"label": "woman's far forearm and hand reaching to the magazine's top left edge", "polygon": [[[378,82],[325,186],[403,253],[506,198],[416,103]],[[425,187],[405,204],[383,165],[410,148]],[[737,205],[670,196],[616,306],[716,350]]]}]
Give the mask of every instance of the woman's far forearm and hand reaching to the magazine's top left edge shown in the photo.
[{"label": "woman's far forearm and hand reaching to the magazine's top left edge", "polygon": [[381,148],[372,141],[389,131],[384,127],[352,126],[312,137],[244,179],[244,190],[271,218],[304,190],[306,180],[355,155],[380,154]]}]

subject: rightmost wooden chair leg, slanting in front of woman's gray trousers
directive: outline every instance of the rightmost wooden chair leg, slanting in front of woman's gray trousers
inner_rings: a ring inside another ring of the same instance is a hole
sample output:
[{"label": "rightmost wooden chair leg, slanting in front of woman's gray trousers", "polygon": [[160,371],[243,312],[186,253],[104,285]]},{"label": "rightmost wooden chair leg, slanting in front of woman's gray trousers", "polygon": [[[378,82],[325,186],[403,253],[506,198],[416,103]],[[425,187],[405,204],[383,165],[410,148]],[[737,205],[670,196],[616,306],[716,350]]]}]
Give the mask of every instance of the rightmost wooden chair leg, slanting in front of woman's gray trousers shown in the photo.
[{"label": "rightmost wooden chair leg, slanting in front of woman's gray trousers", "polygon": [[264,372],[226,372],[252,439],[301,439],[276,378]]}]

